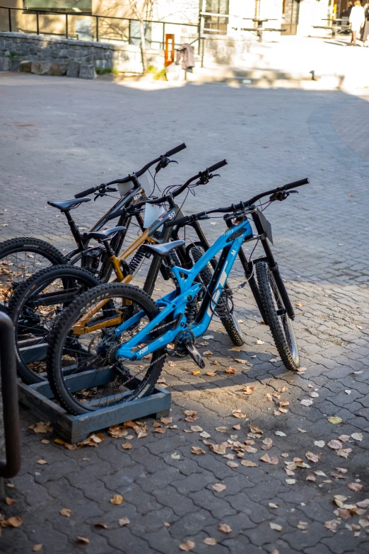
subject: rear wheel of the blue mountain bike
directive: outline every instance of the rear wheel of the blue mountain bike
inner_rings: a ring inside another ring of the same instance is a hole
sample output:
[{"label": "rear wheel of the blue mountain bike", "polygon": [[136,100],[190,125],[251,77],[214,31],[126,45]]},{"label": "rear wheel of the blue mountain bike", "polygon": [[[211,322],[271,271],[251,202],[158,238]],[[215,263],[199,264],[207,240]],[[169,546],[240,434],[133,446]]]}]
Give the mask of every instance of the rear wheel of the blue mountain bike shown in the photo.
[{"label": "rear wheel of the blue mountain bike", "polygon": [[[117,326],[133,313],[135,323],[115,337]],[[69,413],[83,414],[151,393],[163,369],[165,347],[137,361],[117,360],[115,352],[158,313],[145,292],[110,283],[86,292],[61,314],[50,336],[47,376],[55,398]],[[153,331],[148,342],[158,333]]]}]

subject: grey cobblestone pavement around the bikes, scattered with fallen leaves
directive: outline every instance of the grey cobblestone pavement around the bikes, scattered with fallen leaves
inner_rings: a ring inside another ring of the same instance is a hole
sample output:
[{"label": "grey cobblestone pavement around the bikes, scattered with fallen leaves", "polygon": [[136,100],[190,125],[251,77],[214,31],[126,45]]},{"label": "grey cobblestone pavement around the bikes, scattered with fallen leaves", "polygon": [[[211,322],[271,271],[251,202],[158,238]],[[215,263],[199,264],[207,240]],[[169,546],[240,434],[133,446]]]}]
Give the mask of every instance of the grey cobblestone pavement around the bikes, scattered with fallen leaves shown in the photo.
[{"label": "grey cobblestone pavement around the bikes, scattered with fallen leaves", "polygon": [[[4,239],[38,236],[68,248],[64,221],[46,200],[126,175],[182,141],[188,149],[177,156],[180,166],[163,172],[161,183],[181,183],[221,158],[229,161],[221,179],[189,196],[187,213],[305,176],[311,180],[266,212],[296,306],[305,374],[271,362],[276,348],[269,330],[242,289],[235,304],[244,347],[233,348],[215,321],[206,333],[213,338],[201,347],[213,352],[205,371],[193,375],[197,368],[187,359],[165,364],[177,427],[154,433],[154,420],[147,418],[147,436],[131,439],[131,449],[122,449],[127,439],[105,432],[97,448],[69,451],[54,443],[52,433],[28,429],[39,418],[22,409],[23,466],[14,487],[5,487],[16,504],[1,509],[23,524],[3,529],[1,551],[23,554],[42,543],[47,554],[172,554],[192,541],[197,554],[367,553],[368,512],[361,507],[355,514],[353,504],[369,497],[368,98],[216,85],[143,91],[99,80],[8,74],[0,79],[0,100]],[[75,212],[76,219],[87,227],[111,202],[91,203]],[[215,238],[223,224],[214,219],[204,228]],[[240,267],[233,275],[236,286]],[[225,373],[228,367],[236,374]],[[209,371],[215,375],[206,376]],[[254,392],[246,395],[245,386]],[[288,411],[275,415],[283,400]],[[236,409],[246,417],[236,419]],[[184,410],[196,411],[196,422],[185,421]],[[333,425],[327,419],[332,416],[342,422]],[[250,424],[262,429],[262,437],[233,460],[210,451],[199,431],[190,432],[195,425],[211,435],[210,442],[233,434],[244,442]],[[342,435],[341,450],[327,446]],[[268,437],[273,446],[263,451]],[[40,442],[45,438],[49,444]],[[193,446],[205,454],[192,454]],[[279,463],[260,461],[265,454]],[[287,475],[285,463],[295,457],[310,468]],[[47,464],[37,464],[40,458]],[[244,466],[245,459],[257,465]],[[216,483],[226,487],[217,492]],[[362,490],[353,490],[356,485]],[[117,494],[124,497],[119,506],[110,502]],[[334,495],[346,497],[341,504],[348,508],[337,512]],[[63,508],[71,509],[70,517],[59,513]],[[130,523],[121,527],[122,517]],[[99,522],[107,529],[95,526]],[[76,543],[77,536],[90,543]],[[206,538],[218,542],[210,546]]]}]

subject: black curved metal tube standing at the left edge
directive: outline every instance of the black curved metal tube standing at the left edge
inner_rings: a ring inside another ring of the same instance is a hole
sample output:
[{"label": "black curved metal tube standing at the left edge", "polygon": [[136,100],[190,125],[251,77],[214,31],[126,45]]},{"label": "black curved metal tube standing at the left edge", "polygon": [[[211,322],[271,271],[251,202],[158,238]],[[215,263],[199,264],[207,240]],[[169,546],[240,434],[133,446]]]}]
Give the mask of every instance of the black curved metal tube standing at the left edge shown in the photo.
[{"label": "black curved metal tube standing at the left edge", "polygon": [[11,319],[0,310],[0,371],[5,461],[0,461],[0,478],[14,477],[21,468],[16,352]]}]

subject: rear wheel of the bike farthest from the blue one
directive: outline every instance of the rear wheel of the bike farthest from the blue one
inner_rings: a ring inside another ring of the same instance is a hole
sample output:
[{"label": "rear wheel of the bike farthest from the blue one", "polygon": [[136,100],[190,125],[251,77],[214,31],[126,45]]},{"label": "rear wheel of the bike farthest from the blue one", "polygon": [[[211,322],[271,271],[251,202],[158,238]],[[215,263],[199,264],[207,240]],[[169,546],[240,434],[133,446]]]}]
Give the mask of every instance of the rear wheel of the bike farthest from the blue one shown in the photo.
[{"label": "rear wheel of the bike farthest from the blue one", "polygon": [[35,272],[65,263],[64,255],[38,238],[11,238],[0,243],[0,301],[6,306],[16,287]]}]

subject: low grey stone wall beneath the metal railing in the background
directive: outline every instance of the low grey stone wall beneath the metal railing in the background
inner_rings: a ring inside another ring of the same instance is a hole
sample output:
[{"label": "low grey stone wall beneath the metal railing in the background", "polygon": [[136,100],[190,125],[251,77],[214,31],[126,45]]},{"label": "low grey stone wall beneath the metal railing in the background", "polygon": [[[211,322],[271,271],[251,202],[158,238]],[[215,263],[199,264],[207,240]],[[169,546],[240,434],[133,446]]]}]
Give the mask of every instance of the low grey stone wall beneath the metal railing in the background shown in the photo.
[{"label": "low grey stone wall beneath the metal railing in the background", "polygon": [[[0,33],[0,71],[18,71],[23,60],[47,62],[54,66],[54,73],[50,67],[47,71],[33,71],[37,73],[79,76],[81,69],[81,76],[84,76],[86,66],[92,69],[117,69],[124,73],[142,72],[141,50],[134,45],[83,42],[24,33]],[[149,50],[148,63],[162,69],[163,51]],[[61,66],[61,73],[57,71],[58,65]]]}]

